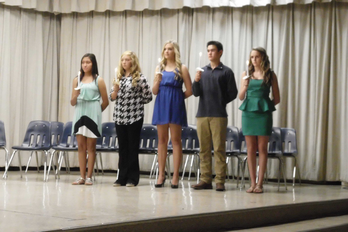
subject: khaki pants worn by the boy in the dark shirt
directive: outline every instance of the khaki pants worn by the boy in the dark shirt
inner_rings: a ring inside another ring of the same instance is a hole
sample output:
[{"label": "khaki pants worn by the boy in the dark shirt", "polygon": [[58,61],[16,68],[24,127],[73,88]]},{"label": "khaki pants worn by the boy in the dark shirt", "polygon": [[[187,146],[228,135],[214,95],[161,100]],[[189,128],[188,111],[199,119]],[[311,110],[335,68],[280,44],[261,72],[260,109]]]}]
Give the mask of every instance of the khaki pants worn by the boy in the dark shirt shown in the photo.
[{"label": "khaki pants worn by the boy in the dark shirt", "polygon": [[212,182],[212,140],[214,146],[215,183],[225,183],[226,179],[226,130],[227,118],[197,117],[199,139],[200,179]]}]

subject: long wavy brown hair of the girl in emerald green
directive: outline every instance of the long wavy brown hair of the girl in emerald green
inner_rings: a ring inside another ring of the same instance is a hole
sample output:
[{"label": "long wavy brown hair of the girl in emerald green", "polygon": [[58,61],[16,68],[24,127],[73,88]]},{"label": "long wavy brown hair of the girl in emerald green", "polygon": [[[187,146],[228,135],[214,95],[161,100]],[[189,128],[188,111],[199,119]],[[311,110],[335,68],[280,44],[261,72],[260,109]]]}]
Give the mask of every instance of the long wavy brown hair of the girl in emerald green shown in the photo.
[{"label": "long wavy brown hair of the girl in emerald green", "polygon": [[[261,54],[260,67],[261,67],[262,76],[263,76],[262,85],[270,86],[272,84],[272,70],[270,68],[270,62],[269,62],[268,55],[266,53],[266,49],[264,49],[262,47],[256,47],[256,48],[253,48],[251,51],[258,51]],[[253,72],[255,72],[255,67],[251,62],[251,58],[249,58],[249,73],[250,73],[250,75],[252,75]]]}]

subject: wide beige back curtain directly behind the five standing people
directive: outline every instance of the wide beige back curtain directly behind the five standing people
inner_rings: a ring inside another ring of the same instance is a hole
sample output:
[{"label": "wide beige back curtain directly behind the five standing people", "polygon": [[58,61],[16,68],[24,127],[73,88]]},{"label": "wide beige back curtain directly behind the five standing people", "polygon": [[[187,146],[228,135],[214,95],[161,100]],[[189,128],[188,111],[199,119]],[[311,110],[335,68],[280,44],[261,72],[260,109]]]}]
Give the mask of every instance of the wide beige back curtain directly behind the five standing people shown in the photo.
[{"label": "wide beige back curtain directly behind the five standing people", "polygon": [[[302,179],[347,180],[347,7],[347,3],[330,2],[62,14],[58,118],[64,122],[72,118],[71,82],[87,52],[96,54],[100,74],[110,88],[121,53],[135,51],[152,85],[166,40],[179,42],[192,80],[198,53],[205,52],[207,41],[219,40],[224,45],[222,62],[235,72],[239,86],[250,49],[262,46],[280,86],[274,126],[296,129]],[[202,64],[207,63],[204,55]],[[154,102],[155,96],[145,107],[144,123],[151,123]],[[228,104],[229,125],[241,126],[240,104],[237,99]],[[198,98],[186,100],[191,124],[196,124],[197,105]],[[112,121],[112,111],[113,103],[103,112],[103,121]],[[117,157],[103,159],[105,168],[117,168]],[[141,169],[149,170],[152,159],[140,156],[140,161]],[[291,160],[287,163],[290,178]],[[270,161],[270,177],[276,176],[276,165]]]}]

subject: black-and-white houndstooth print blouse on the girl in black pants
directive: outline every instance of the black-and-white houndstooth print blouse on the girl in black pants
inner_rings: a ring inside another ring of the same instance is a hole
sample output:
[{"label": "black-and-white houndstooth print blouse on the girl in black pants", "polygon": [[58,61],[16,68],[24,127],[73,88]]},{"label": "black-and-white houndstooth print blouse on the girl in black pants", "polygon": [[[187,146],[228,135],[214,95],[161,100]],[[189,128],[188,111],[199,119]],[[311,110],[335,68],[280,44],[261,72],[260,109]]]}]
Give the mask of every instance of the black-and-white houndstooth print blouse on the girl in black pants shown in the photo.
[{"label": "black-and-white houndstooth print blouse on the girl in black pants", "polygon": [[120,89],[116,99],[111,98],[111,88],[109,99],[116,101],[113,111],[113,120],[118,125],[129,125],[144,117],[144,104],[151,102],[152,93],[147,78],[140,74],[137,86],[132,86],[132,77],[122,77]]}]

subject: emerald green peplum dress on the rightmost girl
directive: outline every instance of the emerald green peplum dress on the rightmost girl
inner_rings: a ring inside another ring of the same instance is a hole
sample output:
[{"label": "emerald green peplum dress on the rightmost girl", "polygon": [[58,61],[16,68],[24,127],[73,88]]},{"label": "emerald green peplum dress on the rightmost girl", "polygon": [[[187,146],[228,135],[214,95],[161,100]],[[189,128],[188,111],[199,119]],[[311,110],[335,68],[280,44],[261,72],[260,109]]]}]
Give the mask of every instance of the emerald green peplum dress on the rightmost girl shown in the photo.
[{"label": "emerald green peplum dress on the rightmost girl", "polygon": [[243,135],[271,135],[276,110],[269,98],[271,86],[262,86],[263,80],[251,79],[246,98],[239,110],[242,110]]}]

